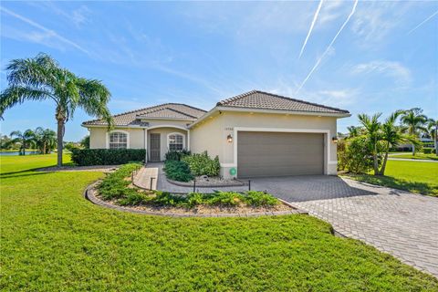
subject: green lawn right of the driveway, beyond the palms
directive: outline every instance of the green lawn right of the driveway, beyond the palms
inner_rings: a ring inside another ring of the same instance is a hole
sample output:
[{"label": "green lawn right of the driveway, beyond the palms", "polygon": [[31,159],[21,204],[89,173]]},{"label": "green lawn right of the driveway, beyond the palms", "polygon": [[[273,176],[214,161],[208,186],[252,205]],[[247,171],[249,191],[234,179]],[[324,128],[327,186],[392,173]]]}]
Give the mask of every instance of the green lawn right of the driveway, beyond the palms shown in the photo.
[{"label": "green lawn right of the driveway, beyond the palms", "polygon": [[348,177],[412,193],[438,196],[438,163],[388,161],[385,176],[360,174]]}]

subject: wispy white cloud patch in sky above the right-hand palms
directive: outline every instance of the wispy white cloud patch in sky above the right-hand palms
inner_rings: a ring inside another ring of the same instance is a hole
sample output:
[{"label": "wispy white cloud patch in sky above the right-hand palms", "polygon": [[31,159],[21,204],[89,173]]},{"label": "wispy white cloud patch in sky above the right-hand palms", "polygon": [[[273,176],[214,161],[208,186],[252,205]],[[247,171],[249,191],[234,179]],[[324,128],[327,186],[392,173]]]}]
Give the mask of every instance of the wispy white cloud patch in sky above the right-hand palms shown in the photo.
[{"label": "wispy white cloud patch in sky above the right-hand palms", "polygon": [[375,60],[353,66],[353,74],[368,74],[393,78],[399,85],[408,85],[412,81],[411,70],[401,63],[387,60]]}]

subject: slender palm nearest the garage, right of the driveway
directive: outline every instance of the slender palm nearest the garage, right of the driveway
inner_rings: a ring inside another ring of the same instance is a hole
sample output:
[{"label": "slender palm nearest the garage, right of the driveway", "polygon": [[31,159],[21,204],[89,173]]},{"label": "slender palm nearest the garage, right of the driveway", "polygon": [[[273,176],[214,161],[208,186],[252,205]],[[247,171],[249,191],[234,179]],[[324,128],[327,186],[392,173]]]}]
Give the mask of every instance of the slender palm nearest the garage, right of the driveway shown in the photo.
[{"label": "slender palm nearest the garage, right of the driveway", "polygon": [[376,113],[370,117],[366,114],[359,114],[358,118],[362,124],[367,140],[369,141],[370,151],[372,153],[372,162],[374,175],[379,174],[379,141],[381,141],[381,123],[379,118],[381,113]]}]

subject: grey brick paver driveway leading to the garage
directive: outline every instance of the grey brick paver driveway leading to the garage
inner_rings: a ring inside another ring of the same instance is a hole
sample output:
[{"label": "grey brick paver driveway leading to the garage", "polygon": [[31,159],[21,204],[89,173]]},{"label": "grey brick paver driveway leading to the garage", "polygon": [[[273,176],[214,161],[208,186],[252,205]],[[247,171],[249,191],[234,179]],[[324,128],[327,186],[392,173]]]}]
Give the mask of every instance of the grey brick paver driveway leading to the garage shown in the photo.
[{"label": "grey brick paver driveway leading to the garage", "polygon": [[331,176],[253,179],[276,194],[402,262],[438,276],[438,198]]}]

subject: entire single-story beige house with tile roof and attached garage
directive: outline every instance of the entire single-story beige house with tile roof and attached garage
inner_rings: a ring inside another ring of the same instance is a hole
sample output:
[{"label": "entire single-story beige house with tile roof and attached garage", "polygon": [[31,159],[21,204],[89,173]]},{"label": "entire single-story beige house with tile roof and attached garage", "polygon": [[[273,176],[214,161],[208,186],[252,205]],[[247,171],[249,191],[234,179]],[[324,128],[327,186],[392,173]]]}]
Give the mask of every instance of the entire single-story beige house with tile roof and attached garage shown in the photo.
[{"label": "entire single-story beige house with tile roof and attached garage", "polygon": [[219,156],[224,177],[336,174],[339,110],[258,90],[224,99],[209,111],[179,103],[89,120],[90,148],[146,149],[148,162],[167,151]]}]

